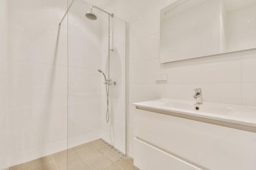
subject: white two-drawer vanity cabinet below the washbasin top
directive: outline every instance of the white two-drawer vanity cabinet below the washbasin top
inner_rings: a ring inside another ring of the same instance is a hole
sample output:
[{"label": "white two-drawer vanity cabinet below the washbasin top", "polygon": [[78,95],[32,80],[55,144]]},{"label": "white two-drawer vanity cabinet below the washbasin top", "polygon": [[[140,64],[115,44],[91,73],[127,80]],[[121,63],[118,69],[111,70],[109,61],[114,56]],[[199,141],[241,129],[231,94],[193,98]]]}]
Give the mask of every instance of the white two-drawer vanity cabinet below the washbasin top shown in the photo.
[{"label": "white two-drawer vanity cabinet below the washbasin top", "polygon": [[140,170],[256,170],[256,133],[136,109]]}]

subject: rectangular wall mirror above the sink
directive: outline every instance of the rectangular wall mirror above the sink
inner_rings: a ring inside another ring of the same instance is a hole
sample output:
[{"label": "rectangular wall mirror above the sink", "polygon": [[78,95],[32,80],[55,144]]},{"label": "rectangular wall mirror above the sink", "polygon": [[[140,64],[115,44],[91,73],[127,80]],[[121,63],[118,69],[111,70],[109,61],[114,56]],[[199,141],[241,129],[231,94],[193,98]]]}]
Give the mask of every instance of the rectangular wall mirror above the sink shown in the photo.
[{"label": "rectangular wall mirror above the sink", "polygon": [[256,0],[177,0],[160,26],[160,63],[253,49]]}]

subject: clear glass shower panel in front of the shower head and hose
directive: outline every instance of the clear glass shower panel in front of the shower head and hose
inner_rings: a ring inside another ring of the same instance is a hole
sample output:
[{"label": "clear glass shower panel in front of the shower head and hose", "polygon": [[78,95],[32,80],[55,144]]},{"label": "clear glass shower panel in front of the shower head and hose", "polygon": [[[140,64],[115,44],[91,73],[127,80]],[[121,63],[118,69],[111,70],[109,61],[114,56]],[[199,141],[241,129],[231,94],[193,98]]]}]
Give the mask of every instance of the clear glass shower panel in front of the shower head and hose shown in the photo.
[{"label": "clear glass shower panel in front of the shower head and hose", "polygon": [[91,6],[74,0],[67,14],[68,169],[103,169],[126,154],[127,23],[114,15],[109,32],[106,13],[94,8],[97,20],[85,17]]}]

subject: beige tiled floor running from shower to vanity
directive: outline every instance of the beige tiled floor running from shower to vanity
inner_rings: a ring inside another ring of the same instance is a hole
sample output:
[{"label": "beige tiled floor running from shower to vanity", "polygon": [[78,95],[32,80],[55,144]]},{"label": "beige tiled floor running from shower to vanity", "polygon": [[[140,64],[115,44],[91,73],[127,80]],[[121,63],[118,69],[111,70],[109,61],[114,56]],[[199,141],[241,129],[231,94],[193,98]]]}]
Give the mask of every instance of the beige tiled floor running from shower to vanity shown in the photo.
[{"label": "beige tiled floor running from shower to vanity", "polygon": [[[68,159],[67,159],[68,158]],[[67,168],[68,167],[68,168]],[[133,158],[123,158],[100,140],[29,161],[9,170],[138,170]]]}]

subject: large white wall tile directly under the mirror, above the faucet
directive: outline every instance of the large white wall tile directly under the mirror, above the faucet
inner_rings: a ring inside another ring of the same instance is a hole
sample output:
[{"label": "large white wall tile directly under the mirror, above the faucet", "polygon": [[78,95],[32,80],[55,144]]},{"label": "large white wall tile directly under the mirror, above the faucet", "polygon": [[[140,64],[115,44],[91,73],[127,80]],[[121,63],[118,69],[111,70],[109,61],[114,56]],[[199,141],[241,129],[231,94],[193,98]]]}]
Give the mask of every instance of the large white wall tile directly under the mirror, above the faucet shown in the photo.
[{"label": "large white wall tile directly under the mirror, above the faucet", "polygon": [[241,52],[165,64],[168,83],[239,83]]}]

